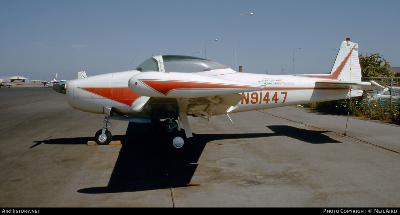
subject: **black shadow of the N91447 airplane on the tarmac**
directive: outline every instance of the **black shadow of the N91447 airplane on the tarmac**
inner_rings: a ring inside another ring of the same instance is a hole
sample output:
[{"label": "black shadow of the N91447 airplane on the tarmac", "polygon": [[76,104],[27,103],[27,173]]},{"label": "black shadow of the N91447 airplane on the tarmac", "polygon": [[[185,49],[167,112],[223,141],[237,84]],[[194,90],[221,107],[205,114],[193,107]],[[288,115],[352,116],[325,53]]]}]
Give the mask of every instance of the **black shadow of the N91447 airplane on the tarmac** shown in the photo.
[{"label": "black shadow of the N91447 airplane on the tarmac", "polygon": [[[160,127],[160,126],[156,126]],[[218,139],[246,139],[288,136],[307,143],[339,143],[324,135],[325,131],[309,131],[287,125],[266,126],[274,133],[193,134],[182,148],[172,146],[174,134],[154,129],[151,123],[129,123],[125,135],[115,135],[122,147],[106,187],[90,187],[79,193],[120,193],[198,186],[190,184],[204,147]],[[181,131],[183,136],[184,131]],[[34,141],[36,145],[86,144],[93,137],[76,137]],[[32,147],[34,147],[32,146]],[[32,148],[31,147],[31,148]]]}]

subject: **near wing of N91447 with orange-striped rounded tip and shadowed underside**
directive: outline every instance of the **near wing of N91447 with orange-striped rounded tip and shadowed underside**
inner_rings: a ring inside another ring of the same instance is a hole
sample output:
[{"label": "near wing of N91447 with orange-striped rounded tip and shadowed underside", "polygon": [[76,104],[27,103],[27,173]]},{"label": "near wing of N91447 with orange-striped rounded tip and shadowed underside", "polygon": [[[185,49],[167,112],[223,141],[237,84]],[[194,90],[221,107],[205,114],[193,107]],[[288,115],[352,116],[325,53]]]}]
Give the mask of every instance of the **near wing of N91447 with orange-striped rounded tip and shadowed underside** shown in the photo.
[{"label": "near wing of N91447 with orange-striped rounded tip and shadowed underside", "polygon": [[[215,74],[215,73],[214,73]],[[128,81],[129,89],[148,101],[138,109],[151,115],[179,116],[186,137],[192,137],[187,115],[209,119],[227,113],[242,99],[241,93],[264,87],[192,73],[142,72]]]}]

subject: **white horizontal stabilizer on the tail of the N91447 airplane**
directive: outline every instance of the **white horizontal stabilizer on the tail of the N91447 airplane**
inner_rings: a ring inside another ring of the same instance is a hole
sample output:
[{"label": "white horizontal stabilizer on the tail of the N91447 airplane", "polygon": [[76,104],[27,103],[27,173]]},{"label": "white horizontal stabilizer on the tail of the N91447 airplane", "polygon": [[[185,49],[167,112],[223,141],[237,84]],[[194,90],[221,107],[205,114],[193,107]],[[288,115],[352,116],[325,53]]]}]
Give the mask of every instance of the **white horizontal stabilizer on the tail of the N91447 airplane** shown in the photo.
[{"label": "white horizontal stabilizer on the tail of the N91447 airplane", "polygon": [[326,80],[326,81],[317,81],[316,84],[326,86],[326,87],[334,87],[334,88],[351,88],[354,90],[386,89],[374,81],[348,82],[348,81]]}]

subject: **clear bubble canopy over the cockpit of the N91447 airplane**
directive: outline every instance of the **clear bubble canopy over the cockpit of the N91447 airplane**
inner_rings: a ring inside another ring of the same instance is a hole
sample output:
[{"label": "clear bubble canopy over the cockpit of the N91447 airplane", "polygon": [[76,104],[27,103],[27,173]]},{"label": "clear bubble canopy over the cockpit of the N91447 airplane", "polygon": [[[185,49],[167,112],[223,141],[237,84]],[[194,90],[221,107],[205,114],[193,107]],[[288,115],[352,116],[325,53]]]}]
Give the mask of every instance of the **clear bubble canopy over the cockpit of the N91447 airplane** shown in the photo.
[{"label": "clear bubble canopy over the cockpit of the N91447 airplane", "polygon": [[[160,68],[162,66],[164,67],[163,69]],[[203,58],[181,55],[162,55],[161,58],[157,58],[156,56],[145,60],[136,70],[141,72],[204,72],[227,68],[228,67],[225,65]]]}]

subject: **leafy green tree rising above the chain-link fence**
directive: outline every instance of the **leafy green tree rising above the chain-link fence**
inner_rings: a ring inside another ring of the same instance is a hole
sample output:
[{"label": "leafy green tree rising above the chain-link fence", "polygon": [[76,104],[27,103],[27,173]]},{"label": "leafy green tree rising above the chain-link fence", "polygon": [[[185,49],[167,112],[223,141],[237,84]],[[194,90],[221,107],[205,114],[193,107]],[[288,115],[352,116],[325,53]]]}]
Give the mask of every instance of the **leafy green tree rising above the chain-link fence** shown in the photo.
[{"label": "leafy green tree rising above the chain-link fence", "polygon": [[371,55],[368,56],[367,53],[365,57],[362,56],[362,54],[358,56],[360,59],[361,76],[363,78],[394,77],[396,73],[389,70],[391,66],[389,65],[389,62],[382,57],[382,55],[379,55],[379,53],[370,54]]}]

